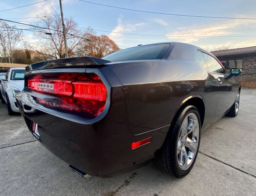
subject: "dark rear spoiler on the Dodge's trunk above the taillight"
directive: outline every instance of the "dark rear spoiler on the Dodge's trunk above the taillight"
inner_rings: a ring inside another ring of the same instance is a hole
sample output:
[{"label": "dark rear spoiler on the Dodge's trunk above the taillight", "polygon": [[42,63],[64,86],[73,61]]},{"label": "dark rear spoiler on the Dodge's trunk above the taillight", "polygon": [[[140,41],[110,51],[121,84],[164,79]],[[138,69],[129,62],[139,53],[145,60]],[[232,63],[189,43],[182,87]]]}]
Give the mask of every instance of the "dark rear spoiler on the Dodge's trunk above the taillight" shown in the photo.
[{"label": "dark rear spoiler on the Dodge's trunk above the taillight", "polygon": [[111,63],[109,60],[104,60],[97,57],[70,57],[70,58],[59,58],[55,60],[46,60],[38,63],[30,64],[26,67],[26,71],[38,70],[38,69],[52,69],[52,68],[65,68],[70,67],[88,67],[99,66],[106,63]]}]

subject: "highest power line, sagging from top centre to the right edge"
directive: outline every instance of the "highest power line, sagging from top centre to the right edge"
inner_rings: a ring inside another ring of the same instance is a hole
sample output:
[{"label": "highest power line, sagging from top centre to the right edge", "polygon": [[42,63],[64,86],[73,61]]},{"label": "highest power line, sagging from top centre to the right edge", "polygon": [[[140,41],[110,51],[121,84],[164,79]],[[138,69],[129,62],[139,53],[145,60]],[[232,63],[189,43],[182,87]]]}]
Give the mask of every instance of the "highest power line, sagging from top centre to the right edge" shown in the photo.
[{"label": "highest power line, sagging from top centre to the right edge", "polygon": [[116,7],[116,6],[108,6],[108,5],[99,4],[99,3],[93,3],[93,2],[90,2],[90,1],[84,1],[84,0],[79,0],[79,1],[83,1],[83,2],[86,2],[86,3],[91,3],[91,4],[95,4],[95,5],[100,5],[100,6],[105,6],[105,7],[110,7],[110,8],[126,9],[126,10],[131,10],[131,11],[146,12],[146,13],[153,13],[153,14],[163,14],[163,15],[173,15],[173,16],[187,16],[187,17],[200,17],[200,18],[226,18],[226,19],[250,19],[250,20],[256,20],[256,18],[236,18],[236,17],[217,17],[217,16],[196,16],[196,15],[185,15],[185,14],[170,14],[170,13],[143,11],[143,10],[129,9],[129,8],[120,8],[120,7]]}]

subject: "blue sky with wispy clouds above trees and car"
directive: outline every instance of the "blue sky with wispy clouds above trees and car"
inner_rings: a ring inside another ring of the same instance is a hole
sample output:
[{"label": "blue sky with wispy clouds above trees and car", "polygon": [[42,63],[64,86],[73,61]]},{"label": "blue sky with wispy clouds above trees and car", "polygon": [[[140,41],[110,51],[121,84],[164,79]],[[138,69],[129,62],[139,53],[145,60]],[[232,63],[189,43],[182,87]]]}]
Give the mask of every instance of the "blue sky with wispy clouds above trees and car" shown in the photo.
[{"label": "blue sky with wispy clouds above trees and car", "polygon": [[[20,7],[41,0],[0,0],[0,10]],[[88,0],[94,3],[116,6],[121,8],[153,11],[161,13],[201,15],[214,17],[256,18],[255,0]],[[60,13],[59,0],[50,0]],[[37,14],[48,12],[53,15],[46,2],[31,6],[2,11],[0,18],[15,21],[37,22],[38,19],[13,19],[36,17]],[[120,48],[166,41],[178,41],[197,45],[207,50],[229,46],[230,48],[249,47],[256,45],[256,37],[171,37],[171,36],[256,36],[256,20],[198,18],[172,16],[137,12],[118,8],[85,3],[79,0],[63,0],[64,17],[72,17],[79,27],[90,26],[97,35],[105,34],[114,40]],[[29,23],[28,23],[29,24]],[[164,35],[140,36],[120,33]],[[27,41],[32,33],[25,32]],[[29,40],[30,39],[30,40]]]}]

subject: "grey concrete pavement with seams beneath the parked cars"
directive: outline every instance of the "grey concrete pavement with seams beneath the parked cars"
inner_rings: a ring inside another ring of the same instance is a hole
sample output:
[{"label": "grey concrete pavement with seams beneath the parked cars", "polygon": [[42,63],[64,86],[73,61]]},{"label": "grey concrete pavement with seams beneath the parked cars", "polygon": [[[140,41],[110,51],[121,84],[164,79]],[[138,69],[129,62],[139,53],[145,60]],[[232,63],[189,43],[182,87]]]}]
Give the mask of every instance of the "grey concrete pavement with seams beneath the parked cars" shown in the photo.
[{"label": "grey concrete pavement with seams beneath the parked cars", "polygon": [[255,195],[256,90],[242,90],[239,114],[201,136],[192,171],[175,179],[146,167],[113,178],[86,180],[46,150],[20,115],[0,104],[0,195]]}]

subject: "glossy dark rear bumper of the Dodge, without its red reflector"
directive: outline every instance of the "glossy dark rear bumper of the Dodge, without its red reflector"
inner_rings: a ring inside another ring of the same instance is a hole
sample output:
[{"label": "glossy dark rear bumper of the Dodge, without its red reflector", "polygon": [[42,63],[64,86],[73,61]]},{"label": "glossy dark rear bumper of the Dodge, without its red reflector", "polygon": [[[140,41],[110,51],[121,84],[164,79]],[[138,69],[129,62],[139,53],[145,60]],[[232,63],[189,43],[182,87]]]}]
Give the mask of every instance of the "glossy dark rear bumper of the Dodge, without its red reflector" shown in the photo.
[{"label": "glossy dark rear bumper of the Dodge, without its red reflector", "polygon": [[[143,166],[161,147],[169,128],[136,136],[129,130],[126,114],[119,113],[125,117],[120,119],[113,118],[114,114],[109,112],[97,123],[81,124],[39,110],[24,112],[24,105],[20,100],[17,102],[29,130],[32,122],[38,123],[42,145],[71,166],[93,176],[111,177]],[[133,142],[148,137],[152,137],[150,143],[131,149]]]}]

